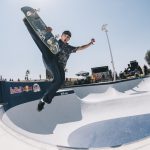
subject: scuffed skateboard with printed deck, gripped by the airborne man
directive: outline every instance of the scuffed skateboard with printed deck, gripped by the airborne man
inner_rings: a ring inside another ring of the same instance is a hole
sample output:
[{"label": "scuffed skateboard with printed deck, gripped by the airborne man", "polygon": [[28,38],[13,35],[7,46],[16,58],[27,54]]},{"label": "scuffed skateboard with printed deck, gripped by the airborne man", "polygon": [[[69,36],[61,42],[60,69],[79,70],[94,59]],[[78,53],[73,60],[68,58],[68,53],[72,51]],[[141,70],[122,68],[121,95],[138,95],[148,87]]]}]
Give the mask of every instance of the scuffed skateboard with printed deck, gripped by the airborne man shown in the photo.
[{"label": "scuffed skateboard with printed deck, gripped by the airborne man", "polygon": [[49,48],[49,50],[53,54],[57,54],[60,51],[57,36],[54,37],[51,32],[47,31],[46,24],[37,13],[38,10],[25,6],[21,8],[21,11],[24,13],[25,18],[27,19],[37,36],[41,39],[41,41]]}]

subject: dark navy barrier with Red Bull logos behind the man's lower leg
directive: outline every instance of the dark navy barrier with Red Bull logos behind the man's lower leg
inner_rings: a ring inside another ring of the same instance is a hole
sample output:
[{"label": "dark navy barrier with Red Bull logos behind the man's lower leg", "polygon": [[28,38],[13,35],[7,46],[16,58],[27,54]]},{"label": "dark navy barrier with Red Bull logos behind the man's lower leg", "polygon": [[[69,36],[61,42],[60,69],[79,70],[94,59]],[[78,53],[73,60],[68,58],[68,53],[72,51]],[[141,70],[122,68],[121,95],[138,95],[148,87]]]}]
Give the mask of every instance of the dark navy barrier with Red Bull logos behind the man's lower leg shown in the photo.
[{"label": "dark navy barrier with Red Bull logos behind the man's lower leg", "polygon": [[7,82],[0,81],[0,103],[5,109],[42,98],[49,81]]}]

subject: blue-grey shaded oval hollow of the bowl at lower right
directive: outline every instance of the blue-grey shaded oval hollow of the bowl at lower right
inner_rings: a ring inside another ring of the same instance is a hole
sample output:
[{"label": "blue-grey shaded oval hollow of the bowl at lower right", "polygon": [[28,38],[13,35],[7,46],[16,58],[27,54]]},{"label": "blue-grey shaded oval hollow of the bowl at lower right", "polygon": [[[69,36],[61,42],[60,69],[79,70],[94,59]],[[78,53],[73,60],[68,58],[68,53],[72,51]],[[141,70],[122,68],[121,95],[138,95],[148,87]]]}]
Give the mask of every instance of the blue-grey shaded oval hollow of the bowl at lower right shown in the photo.
[{"label": "blue-grey shaded oval hollow of the bowl at lower right", "polygon": [[150,114],[87,124],[69,136],[72,147],[121,147],[150,136]]}]

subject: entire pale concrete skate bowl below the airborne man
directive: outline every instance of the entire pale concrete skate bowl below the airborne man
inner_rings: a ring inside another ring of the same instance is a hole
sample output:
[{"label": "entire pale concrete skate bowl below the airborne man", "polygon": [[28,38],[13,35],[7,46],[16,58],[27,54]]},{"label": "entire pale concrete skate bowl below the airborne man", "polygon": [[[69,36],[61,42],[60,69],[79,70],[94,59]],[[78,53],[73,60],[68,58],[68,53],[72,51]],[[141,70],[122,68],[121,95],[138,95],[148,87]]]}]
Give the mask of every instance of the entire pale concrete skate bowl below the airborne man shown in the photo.
[{"label": "entire pale concrete skate bowl below the airborne man", "polygon": [[[141,91],[146,80],[138,85]],[[147,92],[139,94],[119,91],[122,83],[107,86],[104,92],[86,93],[82,99],[62,90],[42,112],[36,110],[39,100],[13,105],[6,112],[1,107],[0,144],[8,147],[1,139],[9,136],[9,141],[17,138],[23,145],[34,145],[31,149],[150,149],[148,85]]]}]

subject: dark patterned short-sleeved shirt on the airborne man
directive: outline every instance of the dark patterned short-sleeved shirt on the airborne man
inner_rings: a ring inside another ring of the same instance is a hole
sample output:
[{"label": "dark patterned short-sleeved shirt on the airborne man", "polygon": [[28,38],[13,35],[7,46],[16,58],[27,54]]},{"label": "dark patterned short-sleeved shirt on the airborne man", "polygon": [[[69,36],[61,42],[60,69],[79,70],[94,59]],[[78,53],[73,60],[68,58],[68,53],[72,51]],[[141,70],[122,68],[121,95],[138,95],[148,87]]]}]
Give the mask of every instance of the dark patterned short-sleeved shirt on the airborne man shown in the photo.
[{"label": "dark patterned short-sleeved shirt on the airborne man", "polygon": [[65,68],[70,54],[75,53],[78,47],[71,46],[61,40],[59,40],[58,43],[60,48],[60,52],[57,54],[58,62]]}]

